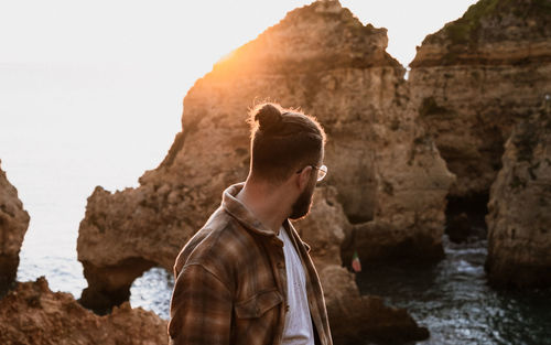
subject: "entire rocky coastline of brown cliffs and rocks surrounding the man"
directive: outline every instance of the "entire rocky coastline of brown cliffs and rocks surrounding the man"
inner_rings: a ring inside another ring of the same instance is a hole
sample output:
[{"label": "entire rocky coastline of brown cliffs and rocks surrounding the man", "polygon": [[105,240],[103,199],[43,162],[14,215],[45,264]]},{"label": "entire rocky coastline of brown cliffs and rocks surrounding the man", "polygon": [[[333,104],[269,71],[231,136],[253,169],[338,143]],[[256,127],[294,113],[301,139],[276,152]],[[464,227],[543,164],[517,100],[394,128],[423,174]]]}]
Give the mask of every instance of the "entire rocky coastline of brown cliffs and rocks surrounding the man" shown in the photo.
[{"label": "entire rocky coastline of brown cliffs and rocks surrounding the man", "polygon": [[316,1],[198,79],[164,161],[137,188],[97,186],[88,197],[77,240],[88,287],[79,302],[105,316],[52,293],[44,279],[15,284],[29,215],[0,170],[0,287],[14,289],[0,300],[0,317],[19,311],[0,325],[0,342],[166,343],[164,321],[129,308],[130,285],[152,267],[172,271],[222,191],[246,177],[245,118],[264,99],[301,106],[329,138],[327,182],[296,228],[312,247],[335,344],[429,336],[406,310],[361,295],[346,263],[355,251],[366,265],[440,260],[446,227],[451,238],[468,236],[467,215],[446,219],[447,201],[466,209],[476,200],[475,212],[488,205],[494,287],[549,287],[551,6],[478,1],[426,36],[408,79],[387,41],[385,29],[361,24],[338,1]]}]

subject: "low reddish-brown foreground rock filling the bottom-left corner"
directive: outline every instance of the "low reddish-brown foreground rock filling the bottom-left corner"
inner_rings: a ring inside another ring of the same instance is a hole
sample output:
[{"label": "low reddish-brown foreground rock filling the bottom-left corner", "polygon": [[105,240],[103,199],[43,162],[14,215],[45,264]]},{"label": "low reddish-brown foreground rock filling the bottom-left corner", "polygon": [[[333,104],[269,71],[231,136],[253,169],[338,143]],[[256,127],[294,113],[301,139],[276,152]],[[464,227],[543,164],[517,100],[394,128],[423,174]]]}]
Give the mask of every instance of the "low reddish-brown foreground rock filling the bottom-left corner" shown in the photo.
[{"label": "low reddish-brown foreground rock filling the bottom-left corner", "polygon": [[98,316],[69,293],[52,292],[44,278],[18,283],[0,300],[0,344],[4,345],[161,345],[166,321],[125,303]]}]

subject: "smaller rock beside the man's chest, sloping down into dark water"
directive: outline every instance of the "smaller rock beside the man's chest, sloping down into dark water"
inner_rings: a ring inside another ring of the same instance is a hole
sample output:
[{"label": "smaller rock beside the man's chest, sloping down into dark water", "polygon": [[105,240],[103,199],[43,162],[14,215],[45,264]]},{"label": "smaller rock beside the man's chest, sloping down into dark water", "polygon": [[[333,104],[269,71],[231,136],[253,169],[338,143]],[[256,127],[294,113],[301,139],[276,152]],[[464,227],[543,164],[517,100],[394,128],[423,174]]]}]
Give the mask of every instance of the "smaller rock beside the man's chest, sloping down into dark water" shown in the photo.
[{"label": "smaller rock beside the man's chest, sloping down into dark water", "polygon": [[403,309],[389,308],[372,295],[360,295],[354,273],[343,268],[341,246],[350,224],[334,187],[317,187],[311,216],[295,224],[311,255],[324,289],[335,344],[385,344],[422,341],[429,331],[419,327]]}]

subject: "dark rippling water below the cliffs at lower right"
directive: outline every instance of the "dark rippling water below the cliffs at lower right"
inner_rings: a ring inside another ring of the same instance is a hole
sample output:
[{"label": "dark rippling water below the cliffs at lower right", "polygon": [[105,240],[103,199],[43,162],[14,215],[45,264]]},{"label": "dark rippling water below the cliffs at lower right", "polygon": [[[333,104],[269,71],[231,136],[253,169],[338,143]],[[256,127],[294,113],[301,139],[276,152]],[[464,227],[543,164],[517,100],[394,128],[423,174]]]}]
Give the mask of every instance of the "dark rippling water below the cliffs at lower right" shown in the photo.
[{"label": "dark rippling water below the cliffs at lower right", "polygon": [[453,244],[432,266],[395,263],[364,268],[361,293],[406,308],[431,332],[419,344],[551,344],[551,290],[497,291],[488,287],[487,241]]}]

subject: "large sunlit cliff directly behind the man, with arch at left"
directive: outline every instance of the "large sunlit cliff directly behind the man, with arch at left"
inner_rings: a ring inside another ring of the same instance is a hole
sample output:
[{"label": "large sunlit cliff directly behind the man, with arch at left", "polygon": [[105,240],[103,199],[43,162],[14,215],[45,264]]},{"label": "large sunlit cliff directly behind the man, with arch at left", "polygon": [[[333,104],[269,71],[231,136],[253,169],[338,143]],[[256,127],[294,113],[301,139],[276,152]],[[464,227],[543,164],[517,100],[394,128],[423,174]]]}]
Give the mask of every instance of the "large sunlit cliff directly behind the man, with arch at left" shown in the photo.
[{"label": "large sunlit cliff directly behind the man, with arch at left", "polygon": [[141,186],[115,194],[98,187],[88,198],[77,247],[89,284],[83,303],[120,303],[144,269],[172,268],[223,190],[245,180],[246,114],[264,99],[301,106],[325,127],[335,202],[353,223],[370,222],[378,238],[388,235],[369,242],[366,260],[441,255],[453,175],[415,122],[404,69],[386,46],[386,30],[364,26],[338,1],[320,1],[215,65],[186,95],[182,132]]}]

